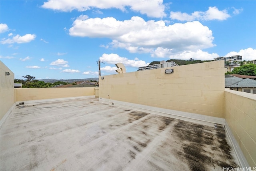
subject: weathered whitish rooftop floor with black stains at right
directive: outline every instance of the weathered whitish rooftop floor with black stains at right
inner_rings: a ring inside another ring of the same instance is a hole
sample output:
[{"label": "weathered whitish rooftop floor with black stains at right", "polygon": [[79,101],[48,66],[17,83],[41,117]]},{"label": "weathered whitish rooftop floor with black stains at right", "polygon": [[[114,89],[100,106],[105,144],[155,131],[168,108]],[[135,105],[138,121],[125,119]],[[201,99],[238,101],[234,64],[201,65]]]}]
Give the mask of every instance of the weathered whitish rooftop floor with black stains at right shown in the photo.
[{"label": "weathered whitish rooftop floor with black stains at right", "polygon": [[0,130],[1,171],[222,171],[225,130],[97,98],[20,105]]}]

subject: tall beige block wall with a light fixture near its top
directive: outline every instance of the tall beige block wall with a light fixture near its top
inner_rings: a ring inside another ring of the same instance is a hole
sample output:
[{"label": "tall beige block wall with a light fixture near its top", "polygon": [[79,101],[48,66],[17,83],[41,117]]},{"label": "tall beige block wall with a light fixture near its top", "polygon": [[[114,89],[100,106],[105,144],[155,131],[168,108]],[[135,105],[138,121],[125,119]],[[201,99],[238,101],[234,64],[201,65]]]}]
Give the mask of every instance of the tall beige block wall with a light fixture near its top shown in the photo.
[{"label": "tall beige block wall with a light fixture near its top", "polygon": [[224,62],[169,68],[104,76],[100,97],[224,118]]}]

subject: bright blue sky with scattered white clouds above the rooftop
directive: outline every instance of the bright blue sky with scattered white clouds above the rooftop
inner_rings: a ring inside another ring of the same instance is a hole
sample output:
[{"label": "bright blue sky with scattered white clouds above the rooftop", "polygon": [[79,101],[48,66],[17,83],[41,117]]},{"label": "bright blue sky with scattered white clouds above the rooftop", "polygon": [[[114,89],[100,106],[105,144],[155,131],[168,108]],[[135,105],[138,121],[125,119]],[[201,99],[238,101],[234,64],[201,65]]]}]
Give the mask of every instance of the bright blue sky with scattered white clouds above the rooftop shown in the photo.
[{"label": "bright blue sky with scattered white clouds above the rooftop", "polygon": [[256,1],[1,0],[0,60],[16,79],[135,72],[152,61],[256,60]]}]

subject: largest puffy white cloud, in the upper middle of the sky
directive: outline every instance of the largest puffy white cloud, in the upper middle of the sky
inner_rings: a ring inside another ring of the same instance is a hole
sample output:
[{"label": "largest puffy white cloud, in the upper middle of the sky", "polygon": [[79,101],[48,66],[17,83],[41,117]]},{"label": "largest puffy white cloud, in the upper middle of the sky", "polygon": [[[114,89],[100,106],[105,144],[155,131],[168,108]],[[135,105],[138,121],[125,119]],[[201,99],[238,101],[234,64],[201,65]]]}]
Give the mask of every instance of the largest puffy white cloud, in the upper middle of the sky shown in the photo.
[{"label": "largest puffy white cloud, in the upper middle of the sky", "polygon": [[101,46],[125,48],[131,53],[154,53],[157,48],[176,53],[215,46],[212,31],[198,21],[166,26],[162,20],[146,22],[140,17],[124,21],[112,17],[76,19],[69,32],[71,36],[110,38],[110,44]]}]

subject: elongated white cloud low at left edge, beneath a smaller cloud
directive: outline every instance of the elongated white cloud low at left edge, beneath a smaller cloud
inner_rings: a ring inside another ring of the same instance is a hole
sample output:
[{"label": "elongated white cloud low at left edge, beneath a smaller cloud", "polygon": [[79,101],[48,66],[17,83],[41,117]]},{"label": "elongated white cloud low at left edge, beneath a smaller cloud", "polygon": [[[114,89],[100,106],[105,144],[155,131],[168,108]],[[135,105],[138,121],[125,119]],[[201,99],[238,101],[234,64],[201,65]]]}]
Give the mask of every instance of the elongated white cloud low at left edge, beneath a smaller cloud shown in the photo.
[{"label": "elongated white cloud low at left edge, beneath a smaller cloud", "polygon": [[32,40],[34,40],[36,38],[35,34],[25,34],[24,36],[20,36],[19,34],[17,34],[16,36],[13,36],[12,38],[3,38],[1,40],[1,44],[13,44],[13,43],[28,43],[31,42]]}]

